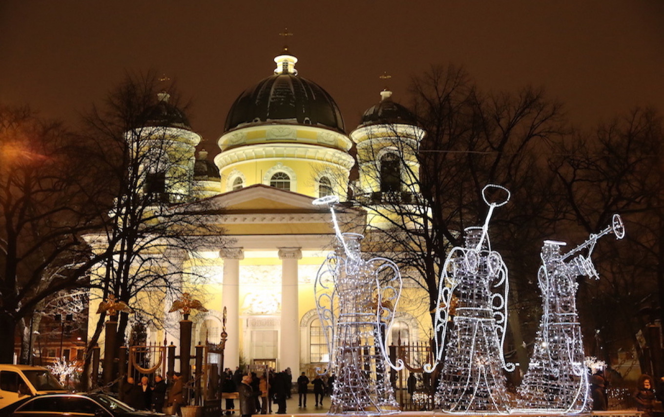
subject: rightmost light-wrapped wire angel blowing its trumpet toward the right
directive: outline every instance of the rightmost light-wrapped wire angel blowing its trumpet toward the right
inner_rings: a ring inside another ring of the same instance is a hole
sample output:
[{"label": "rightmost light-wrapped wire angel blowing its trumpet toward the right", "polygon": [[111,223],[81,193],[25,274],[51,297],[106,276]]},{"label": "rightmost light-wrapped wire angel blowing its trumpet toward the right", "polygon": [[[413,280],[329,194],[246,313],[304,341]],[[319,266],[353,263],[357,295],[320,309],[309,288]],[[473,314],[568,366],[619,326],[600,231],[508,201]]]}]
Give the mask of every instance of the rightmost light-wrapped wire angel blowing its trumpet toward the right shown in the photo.
[{"label": "rightmost light-wrapped wire angel blowing its trumpet toward the right", "polygon": [[[545,240],[537,283],[542,295],[542,319],[535,337],[528,372],[519,387],[519,408],[538,412],[578,413],[588,408],[588,373],[584,365],[581,326],[576,313],[579,276],[598,278],[590,255],[598,238],[625,235],[618,214],[610,226],[561,254],[565,242]],[[572,255],[588,248],[586,256]],[[571,258],[571,259],[570,259]]]}]

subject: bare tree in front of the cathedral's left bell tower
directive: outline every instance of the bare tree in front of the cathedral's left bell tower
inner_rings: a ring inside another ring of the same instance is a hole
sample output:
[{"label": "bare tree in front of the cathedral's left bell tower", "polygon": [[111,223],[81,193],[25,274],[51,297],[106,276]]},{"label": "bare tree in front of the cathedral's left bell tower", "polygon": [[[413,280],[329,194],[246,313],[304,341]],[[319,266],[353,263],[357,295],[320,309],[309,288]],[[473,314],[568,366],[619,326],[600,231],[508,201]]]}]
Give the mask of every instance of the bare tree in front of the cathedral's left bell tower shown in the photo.
[{"label": "bare tree in front of the cathedral's left bell tower", "polygon": [[[127,76],[106,104],[86,118],[94,143],[94,176],[105,181],[102,189],[110,203],[99,212],[104,228],[86,240],[112,252],[93,270],[91,281],[102,288],[102,297],[113,294],[141,315],[139,321],[157,327],[163,325],[167,299],[203,278],[183,271],[185,260],[205,245],[219,248],[223,243],[222,231],[201,216],[214,214],[207,202],[192,197],[194,147],[200,137],[175,105],[172,88],[169,94],[160,86],[155,73]],[[120,335],[127,334],[129,322],[129,315],[120,313]],[[104,313],[88,353],[103,323]],[[116,349],[123,341],[118,338]],[[86,359],[89,363],[89,354]]]}]

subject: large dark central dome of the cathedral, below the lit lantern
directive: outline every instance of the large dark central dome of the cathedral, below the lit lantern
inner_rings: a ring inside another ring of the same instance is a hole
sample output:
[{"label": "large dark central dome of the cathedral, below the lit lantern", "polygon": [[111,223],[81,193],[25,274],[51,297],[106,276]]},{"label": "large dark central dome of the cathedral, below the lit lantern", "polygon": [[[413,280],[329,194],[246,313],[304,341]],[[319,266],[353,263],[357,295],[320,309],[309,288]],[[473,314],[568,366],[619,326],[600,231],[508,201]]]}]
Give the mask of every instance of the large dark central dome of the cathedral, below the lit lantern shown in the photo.
[{"label": "large dark central dome of the cathedral, below the lit lantern", "polygon": [[315,82],[295,74],[275,74],[235,100],[225,130],[244,124],[280,122],[329,127],[345,133],[339,107]]}]

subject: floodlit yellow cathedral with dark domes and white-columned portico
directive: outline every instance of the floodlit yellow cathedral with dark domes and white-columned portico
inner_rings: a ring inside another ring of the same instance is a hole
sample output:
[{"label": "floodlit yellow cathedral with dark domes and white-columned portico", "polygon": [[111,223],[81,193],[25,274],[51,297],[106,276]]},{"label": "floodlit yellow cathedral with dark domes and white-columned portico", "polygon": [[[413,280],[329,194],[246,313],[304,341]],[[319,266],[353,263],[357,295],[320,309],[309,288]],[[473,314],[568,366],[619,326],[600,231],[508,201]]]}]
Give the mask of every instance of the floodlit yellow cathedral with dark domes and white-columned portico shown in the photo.
[{"label": "floodlit yellow cathedral with dark domes and white-columned portico", "polygon": [[[400,192],[400,175],[418,169],[414,155],[395,155],[394,143],[409,141],[416,149],[424,131],[392,101],[392,92],[383,90],[380,101],[348,132],[333,98],[299,76],[295,56],[285,50],[274,62],[274,74],[244,90],[230,108],[214,163],[206,151],[196,152],[201,136],[184,114],[168,104],[167,94],[160,96],[162,110],[177,116],[164,126],[167,134],[181,159],[191,162],[182,171],[193,171],[184,185],[163,174],[161,191],[205,201],[222,213],[201,216],[208,216],[203,220],[220,230],[226,243],[217,247],[199,236],[197,250],[181,254],[183,270],[206,278],[189,284],[197,286],[197,297],[208,309],[191,317],[193,342],[220,341],[225,309],[224,367],[242,362],[290,368],[295,375],[324,368],[329,359],[313,284],[334,250],[335,231],[329,210],[312,202],[339,196],[344,231],[365,233],[372,222],[374,228],[386,226],[380,224],[384,216],[375,215],[381,193]],[[410,169],[400,169],[402,163]],[[357,180],[350,180],[351,170]],[[370,196],[375,207],[353,205],[349,190]],[[169,307],[163,306],[165,315]],[[428,340],[430,317],[422,310],[397,311],[388,343]],[[169,320],[179,319],[171,315]],[[147,333],[151,343],[167,339],[178,345],[175,327]]]}]

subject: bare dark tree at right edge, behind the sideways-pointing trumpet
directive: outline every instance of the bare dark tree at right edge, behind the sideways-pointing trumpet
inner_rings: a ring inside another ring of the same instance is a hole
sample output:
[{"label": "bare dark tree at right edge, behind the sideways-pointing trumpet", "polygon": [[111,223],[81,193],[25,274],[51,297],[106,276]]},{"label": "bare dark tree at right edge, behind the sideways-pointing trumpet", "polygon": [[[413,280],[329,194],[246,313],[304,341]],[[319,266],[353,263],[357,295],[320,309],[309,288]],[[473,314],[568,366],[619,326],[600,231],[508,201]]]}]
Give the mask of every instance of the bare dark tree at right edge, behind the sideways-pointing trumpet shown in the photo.
[{"label": "bare dark tree at right edge, behind the sideways-pointing trumpet", "polygon": [[[600,281],[582,282],[581,297],[589,300],[590,331],[598,331],[598,355],[609,359],[619,350],[635,349],[645,363],[637,331],[642,300],[664,300],[664,172],[662,116],[652,108],[636,108],[562,143],[551,159],[564,187],[565,218],[586,233],[604,227],[614,212],[623,216],[627,234],[622,242],[598,246]],[[664,317],[662,317],[664,318]],[[651,317],[654,319],[654,317]],[[659,370],[661,372],[661,369]]]}]

